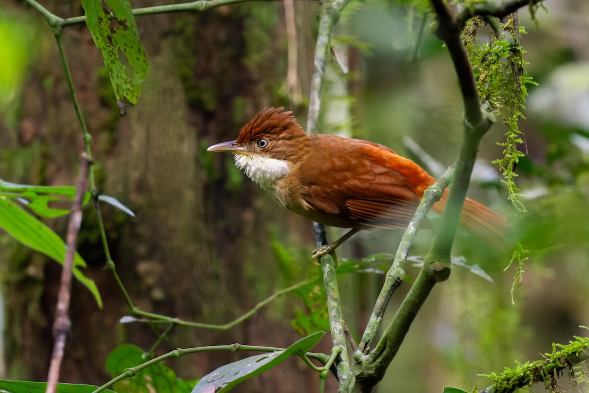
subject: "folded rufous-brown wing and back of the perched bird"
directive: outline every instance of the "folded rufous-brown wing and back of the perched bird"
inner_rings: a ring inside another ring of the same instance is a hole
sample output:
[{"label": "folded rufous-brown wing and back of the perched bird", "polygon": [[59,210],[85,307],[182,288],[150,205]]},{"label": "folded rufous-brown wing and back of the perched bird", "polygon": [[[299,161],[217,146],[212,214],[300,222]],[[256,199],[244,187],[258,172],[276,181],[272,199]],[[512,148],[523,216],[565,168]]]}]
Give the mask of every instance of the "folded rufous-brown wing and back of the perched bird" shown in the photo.
[{"label": "folded rufous-brown wing and back of the perched bird", "polygon": [[[334,141],[337,139],[331,141],[332,148]],[[309,157],[301,168],[306,189],[303,200],[313,209],[345,217],[350,227],[357,223],[405,228],[421,196],[398,168],[387,165],[393,156],[399,156],[378,144],[358,140],[347,140],[339,149],[333,156]]]}]

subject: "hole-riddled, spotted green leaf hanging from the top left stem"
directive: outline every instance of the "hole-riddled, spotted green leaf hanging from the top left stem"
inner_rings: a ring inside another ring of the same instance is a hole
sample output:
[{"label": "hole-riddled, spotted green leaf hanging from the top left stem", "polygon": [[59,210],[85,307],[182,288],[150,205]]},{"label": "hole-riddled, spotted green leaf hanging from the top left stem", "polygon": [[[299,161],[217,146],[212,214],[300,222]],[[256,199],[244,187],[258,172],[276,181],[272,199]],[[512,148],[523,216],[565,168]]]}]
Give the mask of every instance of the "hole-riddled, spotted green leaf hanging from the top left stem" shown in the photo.
[{"label": "hole-riddled, spotted green leaf hanging from the top left stem", "polygon": [[149,65],[131,5],[127,0],[82,0],[82,6],[94,43],[102,51],[117,100],[124,106],[137,104]]}]

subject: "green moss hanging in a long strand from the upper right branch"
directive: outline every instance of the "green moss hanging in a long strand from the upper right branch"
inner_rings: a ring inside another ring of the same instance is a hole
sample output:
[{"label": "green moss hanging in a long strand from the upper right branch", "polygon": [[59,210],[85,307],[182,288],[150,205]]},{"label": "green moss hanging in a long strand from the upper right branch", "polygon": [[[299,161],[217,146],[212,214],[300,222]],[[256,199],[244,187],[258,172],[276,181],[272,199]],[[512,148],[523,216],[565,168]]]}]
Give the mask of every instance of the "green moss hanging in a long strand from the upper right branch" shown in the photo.
[{"label": "green moss hanging in a long strand from the upper right branch", "polygon": [[[525,30],[518,27],[517,16],[514,18],[511,15],[505,19],[504,23],[499,23],[496,18],[474,18],[464,29],[463,37],[475,70],[481,100],[489,111],[501,115],[503,123],[508,127],[505,142],[498,143],[504,147],[504,157],[493,163],[502,171],[505,178],[502,183],[507,186],[509,200],[516,209],[525,212],[524,204],[519,200],[519,188],[515,184],[515,166],[519,158],[525,156],[518,150],[518,145],[524,143],[519,130],[519,119],[524,117],[521,110],[524,109],[528,94],[527,87],[536,82],[525,71],[525,51],[518,42],[519,35],[524,34]],[[494,38],[479,44],[475,40],[485,21],[491,25]]]}]

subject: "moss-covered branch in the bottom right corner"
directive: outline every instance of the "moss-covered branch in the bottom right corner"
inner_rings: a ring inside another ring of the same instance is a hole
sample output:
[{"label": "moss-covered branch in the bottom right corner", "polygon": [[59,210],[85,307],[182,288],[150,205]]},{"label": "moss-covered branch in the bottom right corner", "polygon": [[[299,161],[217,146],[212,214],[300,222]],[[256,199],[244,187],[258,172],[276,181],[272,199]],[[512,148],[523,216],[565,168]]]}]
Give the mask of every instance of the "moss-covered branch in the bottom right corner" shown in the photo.
[{"label": "moss-covered branch in the bottom right corner", "polygon": [[[561,350],[557,351],[557,348]],[[495,393],[513,392],[526,386],[531,388],[537,382],[544,382],[545,387],[551,392],[561,391],[557,376],[564,369],[568,372],[573,371],[573,365],[579,361],[577,356],[588,349],[589,338],[575,336],[575,340],[570,341],[568,345],[552,344],[552,352],[544,354],[544,360],[518,363],[513,369],[505,368],[501,374],[491,373],[485,377],[493,379]]]}]

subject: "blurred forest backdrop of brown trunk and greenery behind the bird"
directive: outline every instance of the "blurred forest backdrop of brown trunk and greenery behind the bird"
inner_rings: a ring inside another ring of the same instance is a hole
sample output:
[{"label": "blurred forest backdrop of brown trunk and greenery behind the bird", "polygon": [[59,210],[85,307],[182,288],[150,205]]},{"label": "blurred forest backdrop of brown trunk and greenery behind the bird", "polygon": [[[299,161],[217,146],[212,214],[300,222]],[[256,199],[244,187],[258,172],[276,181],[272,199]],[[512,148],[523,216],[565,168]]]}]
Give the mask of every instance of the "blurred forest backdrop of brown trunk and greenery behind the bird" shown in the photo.
[{"label": "blurred forest backdrop of brown trunk and greenery behind the bird", "polygon": [[[375,141],[426,164],[411,141],[439,163],[451,164],[461,141],[462,102],[446,49],[406,2],[353,0],[332,36],[342,73],[329,65],[322,133]],[[62,17],[84,14],[77,1],[41,1]],[[137,1],[134,7],[161,5]],[[456,267],[436,286],[413,324],[378,392],[439,392],[485,387],[478,376],[541,358],[552,342],[587,335],[589,325],[589,3],[546,0],[530,18],[521,45],[529,89],[521,130],[525,153],[516,179],[527,213],[507,200],[500,173],[501,119],[481,144],[471,196],[504,214],[510,236],[529,250],[522,286],[511,286],[509,255],[464,234],[454,248],[480,265],[492,282]],[[206,148],[234,139],[264,107],[283,105],[306,124],[319,4],[246,2],[203,13],[137,18],[150,71],[138,105],[120,117],[108,72],[85,25],[64,29],[62,40],[76,94],[92,134],[98,188],[136,214],[102,207],[112,259],[135,305],[190,321],[225,323],[276,290],[316,275],[310,262],[312,225],[283,211],[233,166]],[[287,25],[296,34],[287,33]],[[420,26],[425,26],[418,39]],[[489,34],[481,30],[481,42]],[[83,150],[55,39],[47,22],[22,1],[0,5],[0,179],[62,186],[75,182]],[[418,43],[418,45],[416,45]],[[295,51],[289,54],[289,46]],[[408,139],[410,138],[410,140]],[[432,174],[436,168],[428,166]],[[46,221],[65,236],[66,217]],[[422,256],[432,229],[413,247]],[[394,253],[401,233],[375,230],[353,237],[340,258]],[[335,239],[337,230],[330,232]],[[121,324],[129,311],[105,263],[94,210],[87,206],[78,250],[85,273],[104,299],[74,283],[72,334],[64,382],[101,385],[104,363],[118,344],[147,350],[150,326]],[[390,319],[417,269],[393,296]],[[0,232],[4,314],[0,377],[45,380],[60,267]],[[383,280],[382,272],[343,275],[340,290],[353,335],[362,333]],[[288,346],[312,329],[327,329],[321,288],[280,298],[230,331],[175,328],[157,353],[214,344]],[[317,303],[310,302],[315,298]],[[387,321],[384,323],[386,324]],[[329,351],[324,338],[317,351]],[[198,378],[244,354],[215,352],[168,363],[183,378]],[[333,382],[333,381],[331,381]],[[240,387],[240,391],[319,391],[318,378],[299,359]],[[541,391],[541,387],[538,387]]]}]

